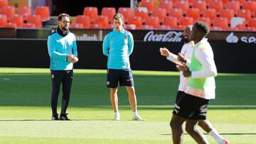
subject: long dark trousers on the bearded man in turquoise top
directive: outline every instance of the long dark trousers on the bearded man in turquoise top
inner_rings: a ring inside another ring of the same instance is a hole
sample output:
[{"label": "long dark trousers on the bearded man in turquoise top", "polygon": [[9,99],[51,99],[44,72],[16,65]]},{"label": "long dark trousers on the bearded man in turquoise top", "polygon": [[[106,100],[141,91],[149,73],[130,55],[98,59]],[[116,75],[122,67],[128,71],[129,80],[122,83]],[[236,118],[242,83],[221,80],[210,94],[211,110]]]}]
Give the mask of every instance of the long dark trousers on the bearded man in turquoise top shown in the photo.
[{"label": "long dark trousers on the bearded man in turquoise top", "polygon": [[52,112],[57,113],[58,95],[60,93],[60,84],[62,84],[62,114],[66,113],[70,99],[70,91],[73,81],[73,70],[50,70],[52,79],[51,108]]}]

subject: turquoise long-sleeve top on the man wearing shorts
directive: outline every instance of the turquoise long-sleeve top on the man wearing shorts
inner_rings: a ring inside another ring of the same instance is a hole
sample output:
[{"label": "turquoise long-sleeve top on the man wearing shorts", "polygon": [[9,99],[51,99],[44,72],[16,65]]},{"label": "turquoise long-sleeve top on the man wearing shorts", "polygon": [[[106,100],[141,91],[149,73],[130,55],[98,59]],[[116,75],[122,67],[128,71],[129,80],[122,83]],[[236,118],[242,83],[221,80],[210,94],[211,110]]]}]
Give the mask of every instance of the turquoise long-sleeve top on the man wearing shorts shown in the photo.
[{"label": "turquoise long-sleeve top on the man wearing shorts", "polygon": [[129,55],[132,54],[134,40],[132,33],[122,29],[118,32],[115,29],[105,35],[102,44],[102,51],[107,55],[107,68],[124,70],[130,69]]}]

